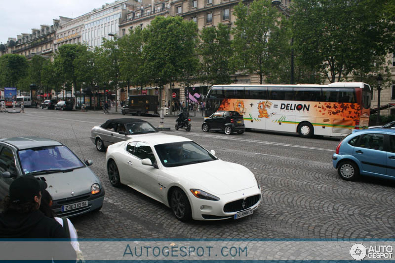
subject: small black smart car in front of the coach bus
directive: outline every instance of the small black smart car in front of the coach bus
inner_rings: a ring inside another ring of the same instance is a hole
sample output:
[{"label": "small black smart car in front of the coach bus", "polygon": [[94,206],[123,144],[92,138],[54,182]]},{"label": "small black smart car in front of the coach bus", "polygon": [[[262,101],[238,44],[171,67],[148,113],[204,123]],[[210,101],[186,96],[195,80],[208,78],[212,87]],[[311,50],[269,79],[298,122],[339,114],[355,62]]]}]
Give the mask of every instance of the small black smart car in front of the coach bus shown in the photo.
[{"label": "small black smart car in front of the coach bus", "polygon": [[205,119],[201,125],[204,132],[223,131],[229,135],[232,132],[242,134],[245,132],[243,115],[235,111],[221,110],[214,112],[209,118]]}]

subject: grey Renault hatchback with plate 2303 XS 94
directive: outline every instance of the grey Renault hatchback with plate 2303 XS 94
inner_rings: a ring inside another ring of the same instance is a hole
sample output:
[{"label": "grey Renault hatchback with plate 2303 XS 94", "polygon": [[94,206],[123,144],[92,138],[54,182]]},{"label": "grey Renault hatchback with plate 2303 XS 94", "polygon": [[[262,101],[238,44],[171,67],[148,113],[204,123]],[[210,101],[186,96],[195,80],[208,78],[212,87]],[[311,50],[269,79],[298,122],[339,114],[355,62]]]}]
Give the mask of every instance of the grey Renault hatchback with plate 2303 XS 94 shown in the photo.
[{"label": "grey Renault hatchback with plate 2303 XS 94", "polygon": [[55,213],[76,216],[100,210],[104,200],[102,183],[68,147],[40,137],[0,139],[0,199],[9,192],[11,182],[34,175],[48,185]]}]

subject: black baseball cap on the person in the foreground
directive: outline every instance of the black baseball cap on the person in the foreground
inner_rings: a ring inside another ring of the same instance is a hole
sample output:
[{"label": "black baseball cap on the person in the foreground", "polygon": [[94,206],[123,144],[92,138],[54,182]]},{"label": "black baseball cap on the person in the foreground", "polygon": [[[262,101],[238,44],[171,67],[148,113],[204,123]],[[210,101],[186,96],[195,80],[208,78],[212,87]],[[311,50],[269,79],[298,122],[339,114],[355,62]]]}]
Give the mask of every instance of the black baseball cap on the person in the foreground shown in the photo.
[{"label": "black baseball cap on the person in the foreground", "polygon": [[9,186],[9,198],[13,203],[26,203],[39,196],[40,191],[47,188],[47,183],[38,180],[33,175],[22,175]]}]

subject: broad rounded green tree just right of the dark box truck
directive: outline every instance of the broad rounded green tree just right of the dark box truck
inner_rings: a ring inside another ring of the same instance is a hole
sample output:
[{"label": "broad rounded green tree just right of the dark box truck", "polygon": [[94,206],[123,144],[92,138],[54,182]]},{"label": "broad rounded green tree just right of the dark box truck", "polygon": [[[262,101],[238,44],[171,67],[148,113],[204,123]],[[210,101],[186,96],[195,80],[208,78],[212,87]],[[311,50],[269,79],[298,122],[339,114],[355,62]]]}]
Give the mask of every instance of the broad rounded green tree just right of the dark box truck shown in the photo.
[{"label": "broad rounded green tree just right of the dark box truck", "polygon": [[158,16],[143,30],[144,69],[152,82],[163,87],[183,76],[184,66],[196,59],[197,32],[195,22],[178,16]]}]

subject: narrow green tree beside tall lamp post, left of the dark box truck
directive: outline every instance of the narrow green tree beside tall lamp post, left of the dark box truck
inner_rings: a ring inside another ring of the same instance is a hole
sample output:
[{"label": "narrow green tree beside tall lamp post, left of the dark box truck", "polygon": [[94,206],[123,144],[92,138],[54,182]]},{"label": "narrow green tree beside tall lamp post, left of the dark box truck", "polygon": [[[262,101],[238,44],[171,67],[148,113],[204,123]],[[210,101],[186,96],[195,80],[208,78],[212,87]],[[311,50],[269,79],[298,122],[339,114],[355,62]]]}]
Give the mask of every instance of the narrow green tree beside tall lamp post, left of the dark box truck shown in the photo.
[{"label": "narrow green tree beside tall lamp post, left of the dark box truck", "polygon": [[96,48],[96,65],[103,82],[115,90],[115,111],[118,112],[118,89],[120,82],[120,50],[119,39],[107,40],[103,38],[102,47]]}]

